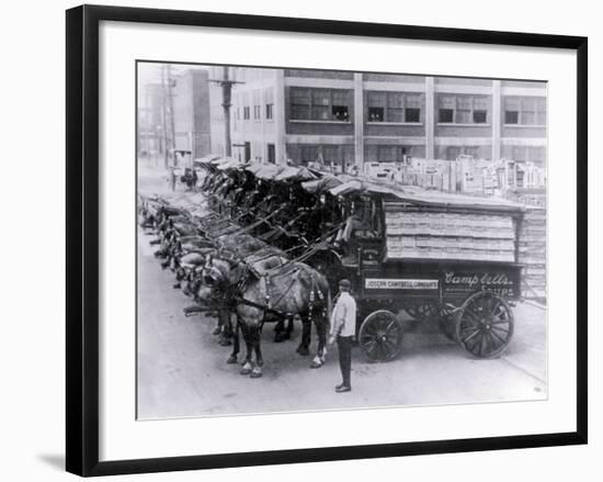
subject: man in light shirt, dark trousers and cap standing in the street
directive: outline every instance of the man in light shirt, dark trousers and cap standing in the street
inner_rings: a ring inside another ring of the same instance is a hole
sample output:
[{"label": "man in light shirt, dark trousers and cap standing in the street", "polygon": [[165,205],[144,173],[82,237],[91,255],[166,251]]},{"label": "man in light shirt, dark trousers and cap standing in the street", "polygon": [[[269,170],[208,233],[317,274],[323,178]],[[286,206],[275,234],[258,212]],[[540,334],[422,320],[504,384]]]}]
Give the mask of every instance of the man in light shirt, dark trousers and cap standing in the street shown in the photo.
[{"label": "man in light shirt, dark trousers and cap standing in the street", "polygon": [[350,295],[351,289],[350,280],[343,279],[339,282],[339,298],[331,315],[329,345],[337,340],[342,377],[341,384],[335,386],[338,393],[352,390],[350,375],[352,371],[352,338],[356,332],[356,302]]}]

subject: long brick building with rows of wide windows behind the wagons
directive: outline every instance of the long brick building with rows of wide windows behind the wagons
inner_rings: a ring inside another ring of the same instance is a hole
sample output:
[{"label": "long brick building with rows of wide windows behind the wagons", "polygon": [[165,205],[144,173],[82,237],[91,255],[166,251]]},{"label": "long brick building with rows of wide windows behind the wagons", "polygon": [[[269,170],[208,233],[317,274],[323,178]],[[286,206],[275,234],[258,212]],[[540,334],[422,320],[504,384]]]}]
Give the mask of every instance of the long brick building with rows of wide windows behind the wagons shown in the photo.
[{"label": "long brick building with rows of wide windows behind the wagons", "polygon": [[[221,78],[224,67],[211,69]],[[348,166],[405,156],[509,158],[544,166],[546,83],[229,67],[232,155]],[[220,91],[211,87],[212,147],[224,154]]]}]

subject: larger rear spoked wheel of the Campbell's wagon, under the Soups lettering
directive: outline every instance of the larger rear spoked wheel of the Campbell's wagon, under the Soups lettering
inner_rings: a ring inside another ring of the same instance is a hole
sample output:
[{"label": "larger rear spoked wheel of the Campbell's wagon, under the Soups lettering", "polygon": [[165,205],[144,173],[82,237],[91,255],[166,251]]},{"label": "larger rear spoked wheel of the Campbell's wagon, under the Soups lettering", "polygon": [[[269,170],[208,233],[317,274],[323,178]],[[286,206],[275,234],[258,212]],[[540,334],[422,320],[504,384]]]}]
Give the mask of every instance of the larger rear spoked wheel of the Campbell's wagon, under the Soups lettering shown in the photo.
[{"label": "larger rear spoked wheel of the Campbell's wagon, under the Soups lettering", "polygon": [[460,306],[456,339],[478,358],[501,355],[513,336],[513,312],[501,298],[488,291],[471,294]]}]

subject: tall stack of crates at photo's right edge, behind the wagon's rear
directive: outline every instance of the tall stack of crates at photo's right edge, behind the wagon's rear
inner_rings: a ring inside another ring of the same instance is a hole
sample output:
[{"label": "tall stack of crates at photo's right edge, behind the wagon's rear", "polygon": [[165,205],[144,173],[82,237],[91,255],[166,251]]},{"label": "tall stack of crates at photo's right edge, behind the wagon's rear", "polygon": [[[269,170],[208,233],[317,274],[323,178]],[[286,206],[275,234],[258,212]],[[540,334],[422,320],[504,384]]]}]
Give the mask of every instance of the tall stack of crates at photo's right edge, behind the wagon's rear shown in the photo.
[{"label": "tall stack of crates at photo's right edge, behind the wagon's rear", "polygon": [[524,264],[522,296],[546,299],[546,210],[528,206],[520,226],[519,262]]}]

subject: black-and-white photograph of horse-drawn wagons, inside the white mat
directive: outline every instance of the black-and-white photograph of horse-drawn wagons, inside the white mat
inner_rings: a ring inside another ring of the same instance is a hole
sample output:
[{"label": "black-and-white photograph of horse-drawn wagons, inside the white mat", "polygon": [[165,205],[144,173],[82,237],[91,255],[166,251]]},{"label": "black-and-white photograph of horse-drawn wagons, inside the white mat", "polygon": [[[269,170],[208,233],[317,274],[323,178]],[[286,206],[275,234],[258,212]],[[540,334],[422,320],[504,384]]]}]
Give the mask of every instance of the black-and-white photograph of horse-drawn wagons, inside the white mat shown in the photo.
[{"label": "black-and-white photograph of horse-drawn wagons, inside the white mat", "polygon": [[547,87],[137,60],[137,419],[547,400]]}]

